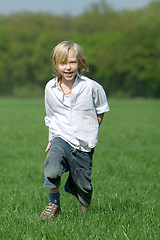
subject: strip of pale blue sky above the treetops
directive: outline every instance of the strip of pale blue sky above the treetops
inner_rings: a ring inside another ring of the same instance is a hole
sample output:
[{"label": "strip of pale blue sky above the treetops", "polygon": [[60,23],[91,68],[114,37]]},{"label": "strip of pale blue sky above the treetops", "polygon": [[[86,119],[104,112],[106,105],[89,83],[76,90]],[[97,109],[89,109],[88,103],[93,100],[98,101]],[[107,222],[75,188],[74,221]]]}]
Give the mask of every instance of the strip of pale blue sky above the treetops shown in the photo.
[{"label": "strip of pale blue sky above the treetops", "polygon": [[[55,15],[70,14],[77,16],[83,13],[92,3],[100,0],[0,0],[0,14],[8,15],[21,11],[44,12]],[[113,9],[133,10],[146,6],[152,0],[108,0]]]}]

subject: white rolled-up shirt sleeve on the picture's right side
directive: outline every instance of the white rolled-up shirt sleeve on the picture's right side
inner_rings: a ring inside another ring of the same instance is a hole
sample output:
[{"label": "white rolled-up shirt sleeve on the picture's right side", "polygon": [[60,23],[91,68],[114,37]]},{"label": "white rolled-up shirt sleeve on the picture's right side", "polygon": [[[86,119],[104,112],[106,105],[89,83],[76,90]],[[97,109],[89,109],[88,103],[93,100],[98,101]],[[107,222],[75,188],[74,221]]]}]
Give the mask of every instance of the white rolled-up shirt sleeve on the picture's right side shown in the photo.
[{"label": "white rolled-up shirt sleeve on the picture's right side", "polygon": [[94,104],[95,104],[97,114],[101,114],[101,113],[110,111],[106,93],[105,93],[103,87],[96,82],[94,84],[93,99],[94,99]]}]

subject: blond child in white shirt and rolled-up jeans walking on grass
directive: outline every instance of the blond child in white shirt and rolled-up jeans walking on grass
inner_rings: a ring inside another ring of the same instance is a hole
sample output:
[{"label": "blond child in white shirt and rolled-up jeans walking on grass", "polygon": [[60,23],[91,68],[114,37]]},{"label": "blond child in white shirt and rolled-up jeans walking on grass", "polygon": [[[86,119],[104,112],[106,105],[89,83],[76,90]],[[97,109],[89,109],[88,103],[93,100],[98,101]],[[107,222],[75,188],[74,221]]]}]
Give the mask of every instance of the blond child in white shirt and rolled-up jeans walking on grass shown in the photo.
[{"label": "blond child in white shirt and rolled-up jeans walking on grass", "polygon": [[92,196],[92,156],[103,115],[109,111],[102,86],[81,75],[88,70],[88,63],[78,44],[59,43],[52,51],[52,64],[56,77],[45,88],[49,152],[44,162],[44,187],[50,189],[50,200],[41,220],[61,213],[59,186],[64,172],[69,172],[65,191],[74,195],[80,211],[87,213]]}]

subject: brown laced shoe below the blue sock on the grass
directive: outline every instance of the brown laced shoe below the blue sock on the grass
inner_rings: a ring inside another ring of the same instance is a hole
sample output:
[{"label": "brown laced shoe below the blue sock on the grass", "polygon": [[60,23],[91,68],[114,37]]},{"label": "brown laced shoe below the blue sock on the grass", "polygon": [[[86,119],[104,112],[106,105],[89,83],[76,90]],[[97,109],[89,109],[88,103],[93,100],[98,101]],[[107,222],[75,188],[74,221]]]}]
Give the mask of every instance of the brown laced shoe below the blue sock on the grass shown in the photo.
[{"label": "brown laced shoe below the blue sock on the grass", "polygon": [[57,206],[55,203],[49,203],[47,207],[43,210],[40,215],[40,220],[53,219],[61,214],[60,206]]}]

